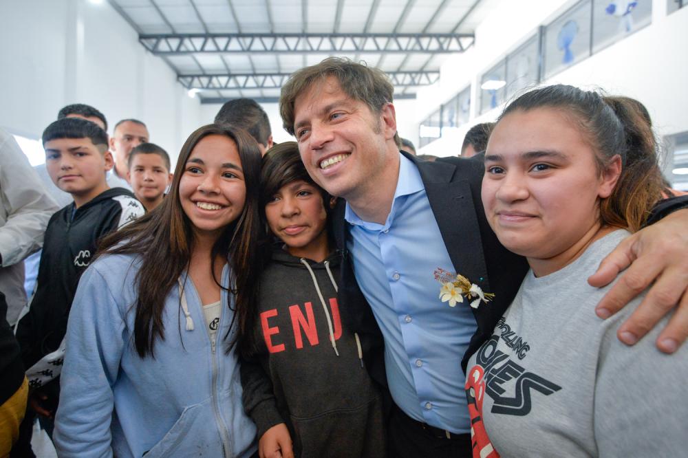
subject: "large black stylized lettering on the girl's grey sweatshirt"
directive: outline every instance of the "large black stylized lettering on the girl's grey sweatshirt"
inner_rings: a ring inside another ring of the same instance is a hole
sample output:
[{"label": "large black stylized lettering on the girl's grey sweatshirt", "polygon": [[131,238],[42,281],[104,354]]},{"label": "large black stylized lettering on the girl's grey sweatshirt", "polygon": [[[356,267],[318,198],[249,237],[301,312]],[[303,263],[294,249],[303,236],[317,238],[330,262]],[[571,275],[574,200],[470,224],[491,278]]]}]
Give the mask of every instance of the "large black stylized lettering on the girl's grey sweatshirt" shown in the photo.
[{"label": "large black stylized lettering on the girl's grey sweatshirt", "polygon": [[[532,391],[548,396],[559,391],[561,386],[526,371],[524,367],[510,360],[506,353],[497,350],[499,338],[500,336],[494,335],[485,342],[478,350],[475,360],[475,364],[483,369],[485,393],[494,401],[491,412],[504,415],[528,415]],[[509,384],[513,388],[507,393],[504,384],[510,380],[514,380]]]}]

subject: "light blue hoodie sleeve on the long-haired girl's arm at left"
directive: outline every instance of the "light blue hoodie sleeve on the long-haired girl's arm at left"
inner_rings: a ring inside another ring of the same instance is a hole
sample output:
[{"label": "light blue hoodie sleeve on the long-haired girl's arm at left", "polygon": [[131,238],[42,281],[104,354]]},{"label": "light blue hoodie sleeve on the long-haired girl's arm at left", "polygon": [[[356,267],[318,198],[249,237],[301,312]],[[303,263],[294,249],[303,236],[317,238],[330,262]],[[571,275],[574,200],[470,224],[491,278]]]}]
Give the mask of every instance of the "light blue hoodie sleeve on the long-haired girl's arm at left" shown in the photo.
[{"label": "light blue hoodie sleeve on the long-haired girl's arm at left", "polygon": [[113,388],[127,345],[118,299],[94,266],[69,312],[54,444],[60,457],[111,457]]}]

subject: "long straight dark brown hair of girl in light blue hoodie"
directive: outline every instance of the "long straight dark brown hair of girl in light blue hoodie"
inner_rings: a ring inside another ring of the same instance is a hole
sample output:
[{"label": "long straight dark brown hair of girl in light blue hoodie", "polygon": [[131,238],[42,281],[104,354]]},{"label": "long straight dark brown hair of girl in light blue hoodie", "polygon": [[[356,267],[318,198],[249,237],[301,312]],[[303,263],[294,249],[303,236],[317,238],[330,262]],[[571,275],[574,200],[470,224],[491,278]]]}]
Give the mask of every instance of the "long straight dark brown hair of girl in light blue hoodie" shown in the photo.
[{"label": "long straight dark brown hair of girl in light blue hoodie", "polygon": [[[207,135],[224,135],[237,145],[246,184],[246,203],[237,219],[227,226],[215,242],[211,259],[228,259],[230,288],[236,308],[254,303],[257,296],[257,274],[261,266],[253,259],[257,251],[260,216],[258,195],[261,155],[255,140],[241,129],[208,124],[193,132],[180,151],[170,193],[155,210],[109,235],[100,243],[98,256],[103,254],[137,254],[140,268],[136,274],[137,298],[134,345],[141,358],[153,356],[155,340],[164,340],[162,321],[167,296],[189,266],[193,252],[193,228],[186,217],[179,197],[179,184],[184,167],[194,147]],[[208,273],[212,272],[211,269]],[[241,275],[237,275],[241,272]],[[219,284],[218,279],[215,281]],[[181,305],[180,305],[181,307]],[[241,316],[235,314],[234,320]],[[228,333],[229,334],[229,333]],[[235,343],[229,342],[227,350]]]}]

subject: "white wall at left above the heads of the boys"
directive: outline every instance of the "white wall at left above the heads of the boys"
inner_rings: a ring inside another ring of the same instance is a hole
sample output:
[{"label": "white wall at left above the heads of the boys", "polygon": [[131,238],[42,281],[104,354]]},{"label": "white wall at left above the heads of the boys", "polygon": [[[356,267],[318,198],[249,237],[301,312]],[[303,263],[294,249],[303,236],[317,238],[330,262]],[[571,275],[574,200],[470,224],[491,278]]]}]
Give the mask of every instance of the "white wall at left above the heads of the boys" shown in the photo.
[{"label": "white wall at left above the heads of the boys", "polygon": [[0,127],[40,138],[61,107],[86,103],[109,133],[122,118],[142,120],[176,157],[201,125],[199,101],[109,3],[2,0],[0,19]]}]

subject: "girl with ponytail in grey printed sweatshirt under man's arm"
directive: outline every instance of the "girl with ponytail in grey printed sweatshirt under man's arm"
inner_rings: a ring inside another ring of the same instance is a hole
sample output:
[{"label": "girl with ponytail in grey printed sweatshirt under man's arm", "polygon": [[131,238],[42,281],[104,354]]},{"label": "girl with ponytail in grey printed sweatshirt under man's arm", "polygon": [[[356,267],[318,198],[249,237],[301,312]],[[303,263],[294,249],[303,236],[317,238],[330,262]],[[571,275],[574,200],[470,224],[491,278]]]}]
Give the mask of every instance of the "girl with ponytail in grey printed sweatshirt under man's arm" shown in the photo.
[{"label": "girl with ponytail in grey printed sweatshirt under man's arm", "polygon": [[644,293],[601,320],[612,285],[587,282],[661,191],[652,130],[627,100],[555,85],[506,107],[482,201],[530,271],[467,366],[474,457],[685,455],[688,349],[660,353],[658,329],[625,347],[616,332]]}]

